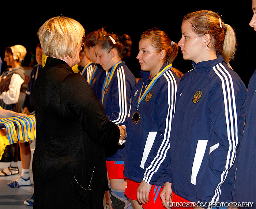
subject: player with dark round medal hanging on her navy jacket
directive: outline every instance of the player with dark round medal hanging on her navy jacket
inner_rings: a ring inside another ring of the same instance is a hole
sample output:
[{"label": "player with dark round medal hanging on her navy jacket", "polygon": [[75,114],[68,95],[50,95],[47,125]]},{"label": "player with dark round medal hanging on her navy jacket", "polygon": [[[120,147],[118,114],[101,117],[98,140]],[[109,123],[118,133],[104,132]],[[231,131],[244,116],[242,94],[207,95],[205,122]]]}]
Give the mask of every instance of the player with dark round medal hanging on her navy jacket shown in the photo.
[{"label": "player with dark round medal hanging on her navy jacket", "polygon": [[124,175],[128,178],[125,194],[134,209],[164,208],[159,194],[164,185],[176,90],[182,76],[172,67],[177,53],[177,43],[158,28],[141,35],[137,59],[142,78],[132,94],[124,160]]}]

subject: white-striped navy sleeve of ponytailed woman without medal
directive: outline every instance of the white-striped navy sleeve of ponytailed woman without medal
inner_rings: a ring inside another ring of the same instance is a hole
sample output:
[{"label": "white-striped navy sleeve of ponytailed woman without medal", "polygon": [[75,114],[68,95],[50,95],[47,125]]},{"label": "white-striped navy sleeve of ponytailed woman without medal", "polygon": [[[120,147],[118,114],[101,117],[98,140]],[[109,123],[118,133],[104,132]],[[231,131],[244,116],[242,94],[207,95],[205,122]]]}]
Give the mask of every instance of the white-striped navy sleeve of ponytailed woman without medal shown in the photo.
[{"label": "white-striped navy sleeve of ponytailed woman without medal", "polygon": [[212,123],[209,157],[196,179],[196,198],[200,202],[218,202],[221,186],[236,159],[245,117],[245,86],[231,76],[216,74],[220,79],[210,88],[208,98]]}]

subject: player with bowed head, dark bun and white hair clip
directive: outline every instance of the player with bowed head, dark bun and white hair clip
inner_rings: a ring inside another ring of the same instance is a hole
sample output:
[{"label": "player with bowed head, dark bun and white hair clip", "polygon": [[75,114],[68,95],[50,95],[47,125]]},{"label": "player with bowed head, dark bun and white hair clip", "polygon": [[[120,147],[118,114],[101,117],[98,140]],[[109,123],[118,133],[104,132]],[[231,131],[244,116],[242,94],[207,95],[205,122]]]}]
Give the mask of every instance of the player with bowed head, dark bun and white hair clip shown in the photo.
[{"label": "player with bowed head, dark bun and white hair clip", "polygon": [[[131,105],[131,92],[136,84],[136,79],[122,61],[130,56],[132,41],[123,34],[106,34],[98,39],[95,52],[97,64],[107,75],[103,82],[101,102],[105,114],[110,121],[122,125],[129,116]],[[124,170],[125,145],[108,147],[106,150],[107,172],[111,186],[111,200],[113,208],[131,208],[129,199],[124,195],[126,179]]]}]

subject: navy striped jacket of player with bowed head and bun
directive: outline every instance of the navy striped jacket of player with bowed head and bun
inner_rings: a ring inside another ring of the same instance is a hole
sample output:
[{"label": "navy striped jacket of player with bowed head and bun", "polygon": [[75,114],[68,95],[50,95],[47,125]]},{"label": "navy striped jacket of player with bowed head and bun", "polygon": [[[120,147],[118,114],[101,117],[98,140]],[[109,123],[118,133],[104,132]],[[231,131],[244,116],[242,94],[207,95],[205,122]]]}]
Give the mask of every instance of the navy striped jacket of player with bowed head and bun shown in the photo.
[{"label": "navy striped jacket of player with bowed head and bun", "polygon": [[[108,73],[111,73],[111,68]],[[136,79],[122,61],[117,65],[114,75],[107,88],[103,106],[108,119],[118,125],[122,125],[129,117],[131,106],[131,94],[135,87]],[[106,160],[124,161],[125,144],[107,148]]]}]

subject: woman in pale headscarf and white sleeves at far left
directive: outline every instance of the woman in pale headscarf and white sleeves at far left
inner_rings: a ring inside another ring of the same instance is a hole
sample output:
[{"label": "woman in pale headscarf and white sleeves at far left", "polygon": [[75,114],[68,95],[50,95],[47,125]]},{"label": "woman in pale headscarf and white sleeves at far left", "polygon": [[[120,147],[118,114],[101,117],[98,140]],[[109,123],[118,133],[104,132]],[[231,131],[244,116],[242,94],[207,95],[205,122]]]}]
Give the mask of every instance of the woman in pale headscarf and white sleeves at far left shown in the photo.
[{"label": "woman in pale headscarf and white sleeves at far left", "polygon": [[[0,76],[0,107],[21,113],[19,95],[25,80],[25,70],[22,61],[27,50],[22,45],[7,47],[4,52],[4,61],[8,68]],[[17,143],[18,144],[18,143]],[[9,176],[19,173],[18,168],[18,145],[7,145],[1,162],[10,162],[10,166],[0,171],[0,176]]]}]

